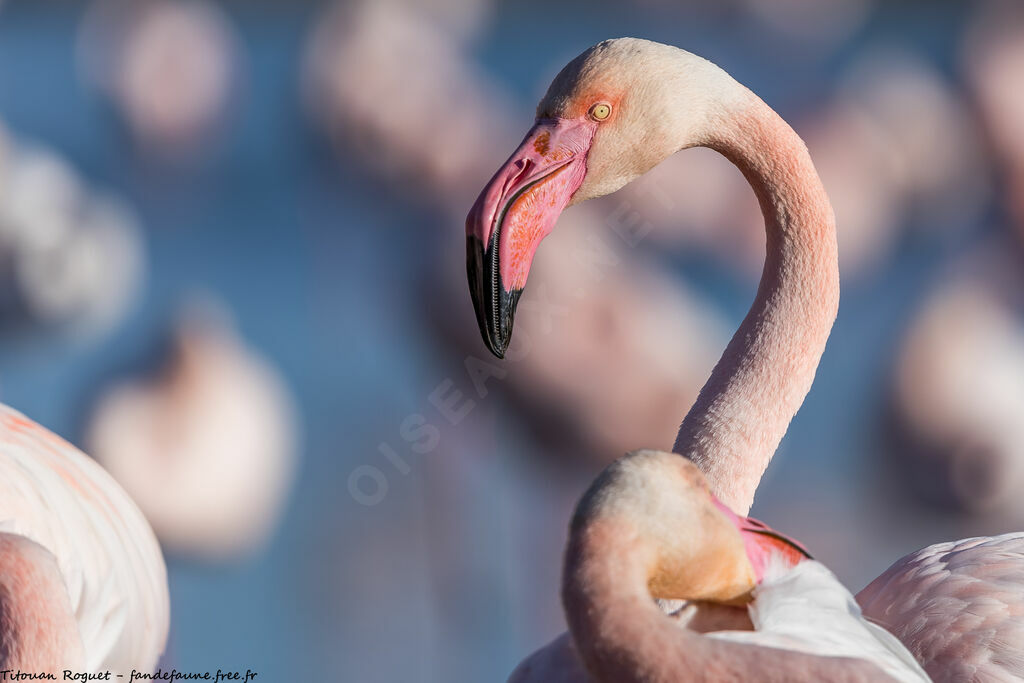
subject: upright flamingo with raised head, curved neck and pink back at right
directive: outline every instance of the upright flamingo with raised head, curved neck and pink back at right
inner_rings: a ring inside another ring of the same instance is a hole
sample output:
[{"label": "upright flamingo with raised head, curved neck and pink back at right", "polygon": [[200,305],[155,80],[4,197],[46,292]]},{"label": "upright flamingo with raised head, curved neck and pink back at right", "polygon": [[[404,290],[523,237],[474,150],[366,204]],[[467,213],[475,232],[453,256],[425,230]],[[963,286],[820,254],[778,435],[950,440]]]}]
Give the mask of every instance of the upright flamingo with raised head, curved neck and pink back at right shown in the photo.
[{"label": "upright flamingo with raised head, curved neck and pink back at right", "polygon": [[[484,341],[501,357],[530,261],[561,210],[614,191],[695,145],[722,153],[750,181],[765,216],[767,258],[754,305],[683,420],[674,450],[701,469],[725,505],[746,514],[810,388],[839,302],[828,199],[806,146],[760,98],[678,48],[618,39],[588,49],[555,78],[535,127],[471,209],[469,284]],[[658,513],[654,503],[650,512]],[[608,561],[624,558],[615,539],[607,541]],[[1024,611],[1005,590],[1021,567],[1024,535],[922,551],[879,580],[899,587],[900,608],[887,613],[878,599],[884,592],[872,584],[864,593],[866,615],[898,633],[939,680],[963,680],[962,671],[946,666],[954,656],[975,667],[975,678],[1021,675]],[[932,607],[936,595],[949,602]],[[954,604],[957,614],[948,613]],[[577,605],[566,601],[570,625],[582,618]],[[984,616],[950,630],[950,617],[963,613]],[[614,647],[615,635],[603,635],[603,645]],[[631,656],[628,643],[636,641],[618,635],[626,648],[618,652]],[[591,646],[574,636],[581,650]],[[638,664],[646,658],[651,667],[678,655],[637,654]]]}]

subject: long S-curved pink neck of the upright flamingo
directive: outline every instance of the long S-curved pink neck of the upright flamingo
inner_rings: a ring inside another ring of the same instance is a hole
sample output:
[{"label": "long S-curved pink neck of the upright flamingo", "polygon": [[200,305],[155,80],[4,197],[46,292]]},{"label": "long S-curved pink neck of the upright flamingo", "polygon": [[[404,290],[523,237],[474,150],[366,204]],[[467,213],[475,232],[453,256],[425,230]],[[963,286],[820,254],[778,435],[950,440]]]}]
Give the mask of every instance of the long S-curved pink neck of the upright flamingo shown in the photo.
[{"label": "long S-curved pink neck of the upright flamingo", "polygon": [[767,231],[765,267],[754,305],[673,449],[741,515],[811,388],[839,307],[836,221],[807,147],[743,90],[742,104],[714,122],[703,144],[739,167],[754,188]]}]

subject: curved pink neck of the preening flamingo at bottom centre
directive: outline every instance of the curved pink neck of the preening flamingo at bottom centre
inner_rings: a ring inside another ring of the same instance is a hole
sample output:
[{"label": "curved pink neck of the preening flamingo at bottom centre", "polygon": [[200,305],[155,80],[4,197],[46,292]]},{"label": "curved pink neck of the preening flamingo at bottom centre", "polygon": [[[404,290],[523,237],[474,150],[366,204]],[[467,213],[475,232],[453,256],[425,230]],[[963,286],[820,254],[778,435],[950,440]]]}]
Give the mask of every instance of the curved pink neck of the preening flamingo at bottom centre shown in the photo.
[{"label": "curved pink neck of the preening flamingo at bottom centre", "polygon": [[595,531],[569,539],[562,603],[580,657],[596,680],[888,680],[866,660],[750,645],[681,628],[647,590],[656,557],[650,544]]}]

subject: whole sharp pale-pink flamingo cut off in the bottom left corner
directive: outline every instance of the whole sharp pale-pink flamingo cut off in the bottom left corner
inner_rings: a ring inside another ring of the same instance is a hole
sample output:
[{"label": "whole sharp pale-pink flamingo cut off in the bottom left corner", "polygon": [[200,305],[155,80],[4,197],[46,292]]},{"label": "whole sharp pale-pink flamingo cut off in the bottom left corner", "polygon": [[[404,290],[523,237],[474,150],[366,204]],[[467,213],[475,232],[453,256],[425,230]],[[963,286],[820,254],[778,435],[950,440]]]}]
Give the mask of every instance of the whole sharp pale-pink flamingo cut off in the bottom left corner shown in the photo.
[{"label": "whole sharp pale-pink flamingo cut off in the bottom left corner", "polygon": [[132,500],[0,404],[0,668],[151,672],[169,618],[164,558]]}]

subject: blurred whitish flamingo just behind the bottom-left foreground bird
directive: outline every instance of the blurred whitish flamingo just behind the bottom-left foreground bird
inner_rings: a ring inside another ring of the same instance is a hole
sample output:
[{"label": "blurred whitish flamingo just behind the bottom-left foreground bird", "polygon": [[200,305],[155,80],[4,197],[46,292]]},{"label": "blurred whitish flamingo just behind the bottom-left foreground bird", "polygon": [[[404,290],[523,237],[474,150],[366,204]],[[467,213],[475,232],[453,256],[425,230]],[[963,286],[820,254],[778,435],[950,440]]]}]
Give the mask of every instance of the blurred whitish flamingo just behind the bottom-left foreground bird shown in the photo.
[{"label": "blurred whitish flamingo just behind the bottom-left foreground bird", "polygon": [[85,436],[169,550],[221,560],[260,549],[295,473],[295,409],[222,310],[196,300],[159,377],[110,387]]}]

